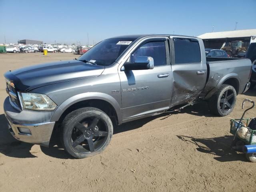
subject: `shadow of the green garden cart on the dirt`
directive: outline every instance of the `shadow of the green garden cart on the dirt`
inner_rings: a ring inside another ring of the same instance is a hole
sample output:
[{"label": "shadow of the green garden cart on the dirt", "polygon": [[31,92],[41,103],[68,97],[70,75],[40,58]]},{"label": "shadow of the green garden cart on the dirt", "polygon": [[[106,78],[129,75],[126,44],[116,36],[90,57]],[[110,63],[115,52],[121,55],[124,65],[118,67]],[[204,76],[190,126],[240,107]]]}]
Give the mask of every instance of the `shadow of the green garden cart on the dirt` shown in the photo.
[{"label": "shadow of the green garden cart on the dirt", "polygon": [[202,153],[213,154],[215,160],[220,162],[247,161],[243,153],[231,149],[233,136],[216,138],[203,138],[194,136],[177,135],[177,137],[190,144],[196,145],[196,150]]}]

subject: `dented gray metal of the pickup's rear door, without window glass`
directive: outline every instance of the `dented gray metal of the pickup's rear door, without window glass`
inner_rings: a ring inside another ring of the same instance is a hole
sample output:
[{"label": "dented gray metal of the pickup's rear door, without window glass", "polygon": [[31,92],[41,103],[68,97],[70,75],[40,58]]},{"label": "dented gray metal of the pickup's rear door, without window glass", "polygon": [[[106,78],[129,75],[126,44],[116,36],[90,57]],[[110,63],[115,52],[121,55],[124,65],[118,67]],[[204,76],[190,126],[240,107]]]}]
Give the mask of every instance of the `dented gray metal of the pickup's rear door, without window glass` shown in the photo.
[{"label": "dented gray metal of the pickup's rear door, without window glass", "polygon": [[207,79],[206,57],[204,49],[201,49],[204,45],[202,40],[196,38],[195,40],[200,47],[200,62],[180,64],[175,62],[175,51],[179,50],[174,49],[174,39],[170,37],[173,84],[170,107],[191,102],[204,90]]}]

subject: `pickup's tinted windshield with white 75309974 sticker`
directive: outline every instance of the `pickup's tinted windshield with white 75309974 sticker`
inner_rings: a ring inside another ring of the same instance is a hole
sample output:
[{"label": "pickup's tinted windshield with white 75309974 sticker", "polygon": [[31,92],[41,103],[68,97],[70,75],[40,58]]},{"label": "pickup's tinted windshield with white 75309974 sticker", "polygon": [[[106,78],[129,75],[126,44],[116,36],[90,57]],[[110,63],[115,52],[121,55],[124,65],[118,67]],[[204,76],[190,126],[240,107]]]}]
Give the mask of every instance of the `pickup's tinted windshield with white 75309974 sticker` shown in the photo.
[{"label": "pickup's tinted windshield with white 75309974 sticker", "polygon": [[85,52],[78,60],[91,61],[97,65],[109,66],[126,50],[134,38],[106,39]]}]

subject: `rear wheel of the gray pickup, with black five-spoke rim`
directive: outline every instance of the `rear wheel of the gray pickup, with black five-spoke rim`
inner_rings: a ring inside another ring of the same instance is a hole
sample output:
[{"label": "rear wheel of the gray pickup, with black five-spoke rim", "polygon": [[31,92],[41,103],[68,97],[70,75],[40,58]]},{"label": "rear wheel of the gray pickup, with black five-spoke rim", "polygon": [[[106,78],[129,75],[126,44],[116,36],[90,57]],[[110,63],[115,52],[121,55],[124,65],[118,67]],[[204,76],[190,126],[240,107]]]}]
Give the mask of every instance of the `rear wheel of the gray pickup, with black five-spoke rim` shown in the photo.
[{"label": "rear wheel of the gray pickup, with black five-spoke rim", "polygon": [[210,112],[217,116],[227,116],[236,104],[236,90],[231,85],[222,85],[210,98],[208,106]]}]

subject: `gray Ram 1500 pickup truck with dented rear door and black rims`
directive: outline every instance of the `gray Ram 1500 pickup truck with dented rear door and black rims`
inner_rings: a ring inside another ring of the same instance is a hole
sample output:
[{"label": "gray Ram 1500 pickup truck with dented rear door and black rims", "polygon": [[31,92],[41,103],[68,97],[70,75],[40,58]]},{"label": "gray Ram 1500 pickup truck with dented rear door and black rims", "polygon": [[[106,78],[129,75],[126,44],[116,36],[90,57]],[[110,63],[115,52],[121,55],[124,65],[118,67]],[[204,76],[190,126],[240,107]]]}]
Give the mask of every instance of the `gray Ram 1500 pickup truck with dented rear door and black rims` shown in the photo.
[{"label": "gray Ram 1500 pickup truck with dented rear door and black rims", "polygon": [[119,36],[75,60],[6,72],[4,112],[14,138],[48,146],[57,131],[70,155],[85,158],[108,146],[113,123],[200,100],[230,114],[251,70],[249,59],[206,58],[199,38]]}]

